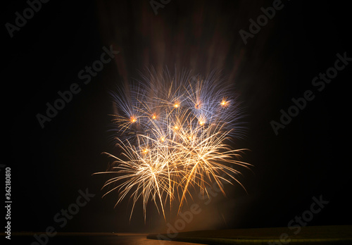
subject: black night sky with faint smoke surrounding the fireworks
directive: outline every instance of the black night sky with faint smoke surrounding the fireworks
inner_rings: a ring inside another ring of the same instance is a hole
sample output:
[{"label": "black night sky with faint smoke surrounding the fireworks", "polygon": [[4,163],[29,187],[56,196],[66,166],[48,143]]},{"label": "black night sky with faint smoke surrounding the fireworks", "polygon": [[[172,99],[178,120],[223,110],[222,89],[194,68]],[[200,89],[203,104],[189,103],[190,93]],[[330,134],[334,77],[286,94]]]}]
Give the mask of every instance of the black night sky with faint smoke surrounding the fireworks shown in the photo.
[{"label": "black night sky with faint smoke surrounding the fireworks", "polygon": [[[249,19],[272,2],[171,0],[156,15],[148,0],[49,1],[13,37],[6,23],[15,25],[15,13],[28,4],[4,3],[1,164],[11,167],[12,231],[39,232],[50,225],[60,232],[165,231],[152,205],[145,224],[140,202],[129,222],[131,202],[114,208],[118,194],[101,199],[106,177],[92,176],[111,163],[102,152],[119,152],[108,132],[109,92],[151,67],[204,75],[221,70],[246,112],[246,137],[235,144],[251,150],[243,161],[253,168],[239,176],[247,192],[234,184],[209,204],[195,196],[203,211],[184,230],[286,227],[320,196],[329,203],[308,225],[351,225],[352,61],[325,85],[312,83],[334,67],[337,54],[352,57],[350,8],[282,1],[283,8],[244,44],[239,31],[249,32]],[[110,47],[119,53],[101,71],[79,77]],[[58,92],[72,86],[76,94],[42,128],[37,114],[45,115],[46,103],[54,104]],[[270,122],[282,123],[280,110],[287,113],[292,99],[307,90],[314,99],[276,135]],[[56,222],[79,190],[95,196],[67,223]]]}]

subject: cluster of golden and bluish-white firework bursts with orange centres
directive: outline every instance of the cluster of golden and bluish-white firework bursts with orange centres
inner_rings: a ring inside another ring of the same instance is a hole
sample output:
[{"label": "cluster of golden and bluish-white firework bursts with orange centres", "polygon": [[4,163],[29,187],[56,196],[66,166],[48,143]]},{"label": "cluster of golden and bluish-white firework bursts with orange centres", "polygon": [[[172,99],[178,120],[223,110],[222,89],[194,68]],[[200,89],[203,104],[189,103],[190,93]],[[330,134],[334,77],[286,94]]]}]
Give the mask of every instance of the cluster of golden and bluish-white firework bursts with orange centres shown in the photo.
[{"label": "cluster of golden and bluish-white firework bursts with orange centres", "polygon": [[106,153],[113,167],[96,174],[114,175],[103,188],[111,187],[106,194],[119,191],[116,205],[130,196],[131,218],[142,199],[145,219],[151,201],[165,218],[166,203],[179,203],[180,211],[191,189],[206,192],[215,183],[225,194],[226,176],[241,184],[235,167],[249,163],[237,160],[244,149],[233,149],[230,142],[244,135],[242,113],[225,81],[216,73],[201,78],[149,72],[143,78],[112,94],[118,109],[113,139],[122,154]]}]

